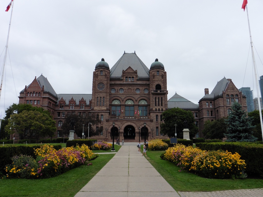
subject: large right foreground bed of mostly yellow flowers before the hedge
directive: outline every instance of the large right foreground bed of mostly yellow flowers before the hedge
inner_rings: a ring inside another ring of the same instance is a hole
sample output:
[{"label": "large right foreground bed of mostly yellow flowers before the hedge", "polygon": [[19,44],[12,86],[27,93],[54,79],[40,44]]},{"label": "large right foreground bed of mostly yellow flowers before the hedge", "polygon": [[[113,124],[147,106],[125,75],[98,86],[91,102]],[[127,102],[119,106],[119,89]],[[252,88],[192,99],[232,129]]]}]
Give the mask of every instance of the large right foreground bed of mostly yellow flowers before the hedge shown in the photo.
[{"label": "large right foreground bed of mostly yellow flowers before the hedge", "polygon": [[168,148],[164,159],[178,165],[182,170],[189,170],[206,178],[241,178],[246,168],[245,160],[240,159],[238,153],[202,151],[182,144]]}]

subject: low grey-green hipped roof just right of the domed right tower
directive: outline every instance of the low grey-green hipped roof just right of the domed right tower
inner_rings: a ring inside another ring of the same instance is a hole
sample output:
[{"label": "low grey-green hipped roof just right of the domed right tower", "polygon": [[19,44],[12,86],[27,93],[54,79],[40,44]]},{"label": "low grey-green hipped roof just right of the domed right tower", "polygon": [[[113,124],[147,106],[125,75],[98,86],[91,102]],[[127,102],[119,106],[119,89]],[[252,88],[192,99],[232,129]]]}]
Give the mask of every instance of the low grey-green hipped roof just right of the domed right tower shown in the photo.
[{"label": "low grey-green hipped roof just right of the domed right tower", "polygon": [[174,108],[174,107],[178,107],[181,109],[199,109],[199,106],[189,100],[187,100],[186,98],[178,95],[175,93],[174,96],[172,96],[169,100],[168,100],[168,109]]}]

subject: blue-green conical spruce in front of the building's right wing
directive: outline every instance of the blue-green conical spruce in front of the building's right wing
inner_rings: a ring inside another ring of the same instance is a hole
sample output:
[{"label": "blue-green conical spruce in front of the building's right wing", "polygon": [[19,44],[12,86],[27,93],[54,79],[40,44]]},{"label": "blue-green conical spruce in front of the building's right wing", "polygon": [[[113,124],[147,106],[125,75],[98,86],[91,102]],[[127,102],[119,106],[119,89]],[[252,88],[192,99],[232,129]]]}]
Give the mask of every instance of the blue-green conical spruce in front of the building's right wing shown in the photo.
[{"label": "blue-green conical spruce in front of the building's right wing", "polygon": [[252,126],[252,120],[247,117],[247,112],[242,110],[240,103],[234,102],[232,111],[226,118],[227,142],[255,142],[256,137],[252,135],[255,126]]}]

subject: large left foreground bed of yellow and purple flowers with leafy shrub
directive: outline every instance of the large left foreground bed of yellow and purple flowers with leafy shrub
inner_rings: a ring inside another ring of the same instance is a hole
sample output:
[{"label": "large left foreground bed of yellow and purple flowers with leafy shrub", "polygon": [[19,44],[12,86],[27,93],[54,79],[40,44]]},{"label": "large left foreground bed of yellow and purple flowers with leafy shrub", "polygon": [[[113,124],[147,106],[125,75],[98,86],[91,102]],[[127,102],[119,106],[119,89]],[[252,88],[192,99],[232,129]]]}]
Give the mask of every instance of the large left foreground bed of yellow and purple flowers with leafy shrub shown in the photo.
[{"label": "large left foreground bed of yellow and purple flowers with leafy shrub", "polygon": [[12,164],[6,166],[7,177],[15,178],[49,178],[66,172],[78,165],[87,163],[93,153],[88,146],[67,147],[55,150],[53,146],[44,144],[35,149],[37,159],[20,155],[12,158]]}]

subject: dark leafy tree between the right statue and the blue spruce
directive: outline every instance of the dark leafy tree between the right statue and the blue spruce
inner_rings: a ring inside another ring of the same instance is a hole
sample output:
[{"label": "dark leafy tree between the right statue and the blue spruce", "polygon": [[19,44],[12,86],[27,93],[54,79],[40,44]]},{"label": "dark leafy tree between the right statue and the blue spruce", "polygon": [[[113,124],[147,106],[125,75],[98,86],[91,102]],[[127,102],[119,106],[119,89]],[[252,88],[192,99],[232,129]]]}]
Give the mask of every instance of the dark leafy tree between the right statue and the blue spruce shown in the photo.
[{"label": "dark leafy tree between the right statue and the blue spruce", "polygon": [[205,121],[205,128],[202,131],[206,139],[223,139],[226,133],[225,118],[220,118],[216,121]]}]

